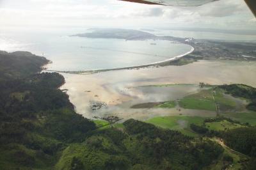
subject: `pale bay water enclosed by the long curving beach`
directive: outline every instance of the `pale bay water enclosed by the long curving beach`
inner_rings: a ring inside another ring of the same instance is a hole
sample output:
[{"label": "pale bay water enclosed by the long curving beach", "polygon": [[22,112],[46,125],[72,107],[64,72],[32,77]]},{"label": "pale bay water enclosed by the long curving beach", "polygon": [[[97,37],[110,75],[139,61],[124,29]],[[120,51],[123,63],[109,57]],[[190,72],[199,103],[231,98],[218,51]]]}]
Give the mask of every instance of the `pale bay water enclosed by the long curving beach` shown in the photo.
[{"label": "pale bay water enclosed by the long curving beach", "polygon": [[191,47],[164,40],[118,40],[70,36],[84,30],[2,31],[0,50],[26,50],[52,61],[49,70],[79,71],[120,68],[164,61]]}]

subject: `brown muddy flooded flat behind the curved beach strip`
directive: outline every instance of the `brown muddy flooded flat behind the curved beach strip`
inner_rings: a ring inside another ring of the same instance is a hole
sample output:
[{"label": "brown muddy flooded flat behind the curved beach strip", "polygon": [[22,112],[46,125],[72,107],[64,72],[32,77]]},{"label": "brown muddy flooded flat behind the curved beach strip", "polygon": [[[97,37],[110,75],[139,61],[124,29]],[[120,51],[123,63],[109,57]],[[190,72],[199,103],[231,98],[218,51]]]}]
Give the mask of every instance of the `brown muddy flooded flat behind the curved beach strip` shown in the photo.
[{"label": "brown muddy flooded flat behind the curved beach strip", "polygon": [[[145,119],[152,116],[201,114],[214,112],[177,111],[173,109],[131,109],[131,105],[146,102],[164,102],[196,93],[199,82],[209,84],[242,83],[256,87],[255,61],[199,61],[184,66],[143,68],[140,70],[115,70],[95,74],[62,73],[70,101],[77,112],[87,118],[115,115],[120,118]],[[244,76],[246,75],[246,76]],[[170,86],[166,88],[140,89],[140,86],[161,84],[195,84],[194,86]],[[86,92],[90,91],[90,93]],[[164,95],[165,94],[165,95]],[[104,102],[106,107],[91,111],[90,103]]]}]

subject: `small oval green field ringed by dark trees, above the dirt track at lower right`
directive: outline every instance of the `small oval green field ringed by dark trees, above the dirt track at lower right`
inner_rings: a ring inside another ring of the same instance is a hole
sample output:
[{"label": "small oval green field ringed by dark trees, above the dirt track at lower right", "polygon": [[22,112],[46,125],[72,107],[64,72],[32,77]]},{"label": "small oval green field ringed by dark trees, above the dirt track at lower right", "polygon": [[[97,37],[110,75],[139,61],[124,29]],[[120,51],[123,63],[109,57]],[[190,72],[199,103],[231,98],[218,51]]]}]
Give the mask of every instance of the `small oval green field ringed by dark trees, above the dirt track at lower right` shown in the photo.
[{"label": "small oval green field ringed by dark trees, above the dirt track at lower right", "polygon": [[220,122],[205,123],[205,126],[210,130],[217,130],[217,131],[243,127],[242,125],[239,125],[237,123],[231,123],[227,120],[223,120]]}]

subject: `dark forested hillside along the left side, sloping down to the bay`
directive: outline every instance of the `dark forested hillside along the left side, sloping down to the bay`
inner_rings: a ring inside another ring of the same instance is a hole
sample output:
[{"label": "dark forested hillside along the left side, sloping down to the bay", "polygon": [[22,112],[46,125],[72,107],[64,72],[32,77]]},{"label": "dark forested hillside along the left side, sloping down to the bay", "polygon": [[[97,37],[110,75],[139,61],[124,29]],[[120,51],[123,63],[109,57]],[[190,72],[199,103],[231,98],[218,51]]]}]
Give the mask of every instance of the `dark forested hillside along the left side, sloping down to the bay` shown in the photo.
[{"label": "dark forested hillside along the left side, sloping down to the bay", "polygon": [[0,169],[52,169],[58,152],[95,129],[58,89],[49,61],[29,52],[0,53]]}]

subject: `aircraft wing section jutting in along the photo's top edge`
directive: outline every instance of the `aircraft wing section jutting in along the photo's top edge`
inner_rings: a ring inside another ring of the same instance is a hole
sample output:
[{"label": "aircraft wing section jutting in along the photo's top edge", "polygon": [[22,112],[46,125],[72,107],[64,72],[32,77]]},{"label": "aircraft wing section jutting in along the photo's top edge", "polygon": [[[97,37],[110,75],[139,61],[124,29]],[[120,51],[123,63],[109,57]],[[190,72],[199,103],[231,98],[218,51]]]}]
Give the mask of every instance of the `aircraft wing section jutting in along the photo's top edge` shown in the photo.
[{"label": "aircraft wing section jutting in along the photo's top edge", "polygon": [[200,6],[202,4],[210,3],[219,0],[121,0],[133,3],[143,4],[162,4],[168,6]]}]

